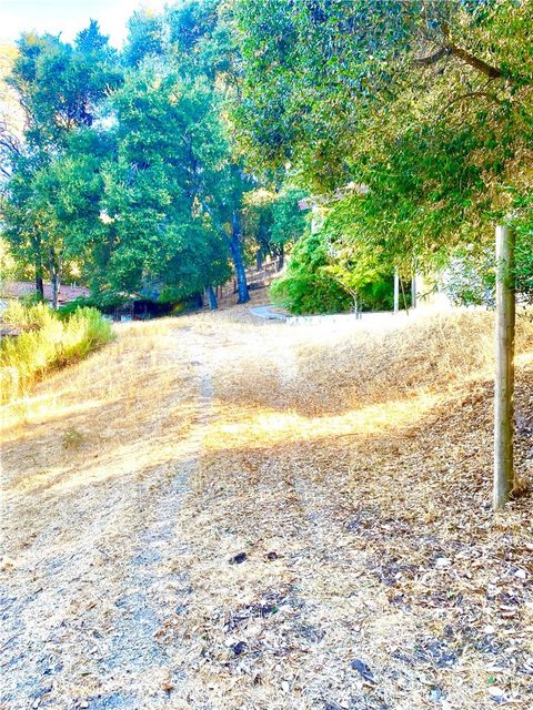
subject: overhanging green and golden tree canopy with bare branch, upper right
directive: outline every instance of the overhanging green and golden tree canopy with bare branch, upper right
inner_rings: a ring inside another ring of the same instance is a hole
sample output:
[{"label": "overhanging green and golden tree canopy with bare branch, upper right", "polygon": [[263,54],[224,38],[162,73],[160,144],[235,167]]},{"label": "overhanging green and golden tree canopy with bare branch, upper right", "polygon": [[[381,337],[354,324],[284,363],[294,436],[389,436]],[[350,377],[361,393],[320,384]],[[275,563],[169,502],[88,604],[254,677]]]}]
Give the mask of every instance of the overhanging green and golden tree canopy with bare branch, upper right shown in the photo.
[{"label": "overhanging green and golden tree canopy with bare branch, upper right", "polygon": [[533,6],[513,0],[237,0],[233,111],[258,170],[291,162],[335,205],[345,241],[404,275],[526,220]]}]

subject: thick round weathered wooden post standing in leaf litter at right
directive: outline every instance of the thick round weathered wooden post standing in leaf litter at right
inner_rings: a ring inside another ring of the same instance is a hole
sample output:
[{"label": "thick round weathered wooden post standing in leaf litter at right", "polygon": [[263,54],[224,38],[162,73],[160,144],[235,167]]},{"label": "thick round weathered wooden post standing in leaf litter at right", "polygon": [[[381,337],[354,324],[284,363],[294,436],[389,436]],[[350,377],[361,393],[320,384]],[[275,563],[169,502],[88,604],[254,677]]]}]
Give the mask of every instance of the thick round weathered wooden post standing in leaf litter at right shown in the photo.
[{"label": "thick round weathered wooden post standing in leaf litter at right", "polygon": [[514,485],[514,230],[511,226],[497,226],[493,500],[495,510],[509,500]]}]

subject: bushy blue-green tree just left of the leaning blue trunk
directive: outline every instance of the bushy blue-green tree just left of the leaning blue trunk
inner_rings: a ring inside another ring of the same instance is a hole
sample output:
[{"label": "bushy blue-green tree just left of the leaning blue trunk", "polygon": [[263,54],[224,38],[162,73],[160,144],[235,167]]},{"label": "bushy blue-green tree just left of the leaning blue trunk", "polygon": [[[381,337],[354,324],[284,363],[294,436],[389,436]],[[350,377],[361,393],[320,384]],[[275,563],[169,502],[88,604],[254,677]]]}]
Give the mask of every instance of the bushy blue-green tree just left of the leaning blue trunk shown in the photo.
[{"label": "bushy blue-green tree just left of the leaning blue trunk", "polygon": [[203,209],[224,151],[210,88],[145,64],[127,73],[110,110],[113,150],[102,154],[102,219],[91,233],[94,288],[179,300],[223,283],[222,235]]}]

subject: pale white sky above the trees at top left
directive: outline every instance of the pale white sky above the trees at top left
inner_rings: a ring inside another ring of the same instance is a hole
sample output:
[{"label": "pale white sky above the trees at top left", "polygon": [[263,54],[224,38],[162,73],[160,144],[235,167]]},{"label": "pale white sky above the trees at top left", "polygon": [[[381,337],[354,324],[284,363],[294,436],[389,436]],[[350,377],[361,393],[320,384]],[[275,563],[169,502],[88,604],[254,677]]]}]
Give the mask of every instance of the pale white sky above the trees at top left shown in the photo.
[{"label": "pale white sky above the trees at top left", "polygon": [[160,10],[165,0],[0,0],[0,41],[13,42],[22,31],[50,32],[66,41],[98,20],[111,44],[120,47],[125,24],[140,7]]}]

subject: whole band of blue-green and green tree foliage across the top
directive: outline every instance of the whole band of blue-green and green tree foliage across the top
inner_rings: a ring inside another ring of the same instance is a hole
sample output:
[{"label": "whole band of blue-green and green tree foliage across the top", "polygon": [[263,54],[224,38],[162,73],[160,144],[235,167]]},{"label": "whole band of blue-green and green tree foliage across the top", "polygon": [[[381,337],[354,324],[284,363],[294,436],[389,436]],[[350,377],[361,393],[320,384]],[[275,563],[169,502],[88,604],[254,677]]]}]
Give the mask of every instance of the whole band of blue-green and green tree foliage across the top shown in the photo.
[{"label": "whole band of blue-green and green tree foliage across the top", "polygon": [[385,303],[395,267],[441,268],[509,214],[531,290],[532,22],[514,0],[184,0],[137,11],[121,55],[95,22],[23,34],[11,253],[52,282],[76,267],[100,304],[188,298],[233,261],[247,300],[243,254],[298,243],[302,185],[330,200],[291,301],[316,282],[326,310]]}]

